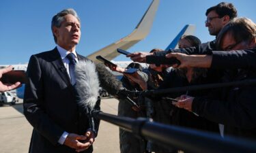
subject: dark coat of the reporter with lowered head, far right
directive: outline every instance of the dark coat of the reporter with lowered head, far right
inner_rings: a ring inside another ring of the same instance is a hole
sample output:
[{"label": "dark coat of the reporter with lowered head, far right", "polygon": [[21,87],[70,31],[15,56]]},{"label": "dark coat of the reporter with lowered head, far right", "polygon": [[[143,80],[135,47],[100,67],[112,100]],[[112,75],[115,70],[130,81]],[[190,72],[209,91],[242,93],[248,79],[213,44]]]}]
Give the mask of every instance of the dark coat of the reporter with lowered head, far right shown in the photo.
[{"label": "dark coat of the reporter with lowered head, far right", "polygon": [[[246,79],[256,79],[255,68],[229,69],[223,82]],[[192,109],[203,118],[224,124],[225,135],[256,139],[255,94],[255,85],[221,88],[217,94],[212,92],[219,100],[196,97]]]}]

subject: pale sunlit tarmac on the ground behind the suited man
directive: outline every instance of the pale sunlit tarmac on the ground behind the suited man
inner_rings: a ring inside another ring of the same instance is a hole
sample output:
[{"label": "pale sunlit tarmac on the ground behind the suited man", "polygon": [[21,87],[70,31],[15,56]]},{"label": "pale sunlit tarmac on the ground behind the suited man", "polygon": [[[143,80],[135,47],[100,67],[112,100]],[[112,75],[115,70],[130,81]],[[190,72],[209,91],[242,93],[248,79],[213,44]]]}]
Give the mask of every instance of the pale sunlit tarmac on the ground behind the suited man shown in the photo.
[{"label": "pale sunlit tarmac on the ground behind the suited man", "polygon": [[[16,105],[0,107],[0,152],[27,153],[31,138],[32,126],[23,115],[23,101]],[[101,110],[104,113],[117,115],[118,101],[102,99]],[[119,128],[108,122],[100,121],[98,137],[94,142],[94,152],[117,153],[119,151]]]}]

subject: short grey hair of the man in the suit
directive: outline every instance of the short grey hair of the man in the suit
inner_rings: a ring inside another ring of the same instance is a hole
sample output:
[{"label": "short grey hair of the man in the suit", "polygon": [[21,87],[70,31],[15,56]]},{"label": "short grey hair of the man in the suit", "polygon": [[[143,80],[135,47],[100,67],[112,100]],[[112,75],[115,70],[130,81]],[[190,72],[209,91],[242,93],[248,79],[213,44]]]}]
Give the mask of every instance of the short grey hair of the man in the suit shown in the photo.
[{"label": "short grey hair of the man in the suit", "polygon": [[[51,24],[52,32],[53,32],[53,27],[57,27],[57,28],[61,27],[61,22],[63,22],[64,16],[66,16],[68,14],[71,14],[71,15],[75,16],[77,18],[77,20],[79,20],[79,22],[80,22],[80,18],[76,14],[76,11],[74,9],[72,9],[72,8],[64,9],[61,12],[55,14],[55,16],[53,16],[52,24]],[[54,37],[54,41],[56,43],[57,42],[57,38],[55,37],[54,33],[53,33],[53,37]]]}]

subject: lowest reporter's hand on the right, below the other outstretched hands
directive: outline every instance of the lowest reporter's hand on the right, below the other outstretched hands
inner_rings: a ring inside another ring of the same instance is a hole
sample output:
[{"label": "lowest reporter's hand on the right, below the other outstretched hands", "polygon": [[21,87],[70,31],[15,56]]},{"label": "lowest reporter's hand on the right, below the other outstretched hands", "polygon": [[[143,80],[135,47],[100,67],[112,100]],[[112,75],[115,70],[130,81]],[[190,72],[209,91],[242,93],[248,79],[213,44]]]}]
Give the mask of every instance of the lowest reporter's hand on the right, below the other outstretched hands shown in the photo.
[{"label": "lowest reporter's hand on the right, below the other outstretched hands", "polygon": [[186,110],[188,110],[189,112],[192,112],[192,103],[193,103],[193,99],[195,97],[190,97],[188,95],[182,95],[180,97],[177,97],[175,99],[179,99],[180,101],[173,101],[173,105],[175,105],[176,107],[179,108],[184,108]]}]

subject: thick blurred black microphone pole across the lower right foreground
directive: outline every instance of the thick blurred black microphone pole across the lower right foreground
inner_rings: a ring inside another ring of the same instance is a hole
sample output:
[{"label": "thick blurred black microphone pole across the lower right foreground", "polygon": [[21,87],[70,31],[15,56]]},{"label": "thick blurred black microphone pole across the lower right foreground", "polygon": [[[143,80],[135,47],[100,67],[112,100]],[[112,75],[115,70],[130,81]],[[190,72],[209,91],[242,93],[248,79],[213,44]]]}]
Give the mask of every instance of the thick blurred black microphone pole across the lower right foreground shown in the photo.
[{"label": "thick blurred black microphone pole across the lower right foreground", "polygon": [[144,137],[162,146],[179,148],[185,152],[256,152],[256,141],[238,137],[225,137],[215,133],[186,129],[152,122],[146,118],[128,118],[93,110],[94,118],[115,124],[134,135]]}]

